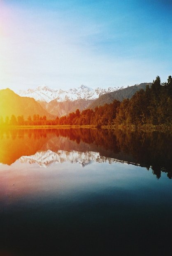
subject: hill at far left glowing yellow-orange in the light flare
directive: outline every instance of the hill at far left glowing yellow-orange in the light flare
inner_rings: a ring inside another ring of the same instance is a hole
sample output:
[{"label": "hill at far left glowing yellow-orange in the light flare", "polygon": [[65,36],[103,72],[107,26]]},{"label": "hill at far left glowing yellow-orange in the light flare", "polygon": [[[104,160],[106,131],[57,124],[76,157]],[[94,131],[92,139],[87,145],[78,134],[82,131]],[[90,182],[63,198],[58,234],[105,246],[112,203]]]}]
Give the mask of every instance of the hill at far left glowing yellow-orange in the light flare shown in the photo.
[{"label": "hill at far left glowing yellow-orange in the light flare", "polygon": [[10,118],[11,115],[23,115],[27,119],[34,114],[54,118],[34,98],[21,97],[8,88],[0,90],[0,116]]}]

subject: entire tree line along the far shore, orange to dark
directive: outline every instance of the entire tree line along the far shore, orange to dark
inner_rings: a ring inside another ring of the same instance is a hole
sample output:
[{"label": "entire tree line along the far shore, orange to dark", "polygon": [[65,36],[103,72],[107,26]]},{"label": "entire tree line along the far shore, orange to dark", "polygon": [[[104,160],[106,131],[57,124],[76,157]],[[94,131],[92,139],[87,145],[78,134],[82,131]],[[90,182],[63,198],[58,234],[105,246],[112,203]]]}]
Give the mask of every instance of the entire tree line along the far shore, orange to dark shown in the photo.
[{"label": "entire tree line along the far shore, orange to dark", "polygon": [[94,110],[86,109],[82,112],[77,109],[69,115],[56,117],[55,120],[47,120],[46,116],[29,116],[24,120],[23,116],[3,120],[0,117],[0,125],[93,125],[96,127],[111,125],[140,126],[142,124],[172,124],[172,77],[167,82],[161,83],[160,77],[153,80],[152,86],[146,86],[146,90],[137,91],[132,98],[122,102],[114,100],[111,104],[96,107]]}]

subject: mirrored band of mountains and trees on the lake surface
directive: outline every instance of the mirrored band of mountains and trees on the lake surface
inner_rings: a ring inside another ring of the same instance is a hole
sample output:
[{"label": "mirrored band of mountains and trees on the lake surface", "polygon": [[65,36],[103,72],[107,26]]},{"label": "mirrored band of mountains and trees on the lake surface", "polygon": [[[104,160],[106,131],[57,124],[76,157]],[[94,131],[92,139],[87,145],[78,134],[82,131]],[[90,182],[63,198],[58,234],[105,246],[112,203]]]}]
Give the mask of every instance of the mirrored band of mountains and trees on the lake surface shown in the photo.
[{"label": "mirrored band of mountains and trees on the lake surface", "polygon": [[140,165],[172,178],[172,136],[160,132],[101,129],[13,129],[0,131],[0,163],[16,160],[47,166],[70,161]]}]

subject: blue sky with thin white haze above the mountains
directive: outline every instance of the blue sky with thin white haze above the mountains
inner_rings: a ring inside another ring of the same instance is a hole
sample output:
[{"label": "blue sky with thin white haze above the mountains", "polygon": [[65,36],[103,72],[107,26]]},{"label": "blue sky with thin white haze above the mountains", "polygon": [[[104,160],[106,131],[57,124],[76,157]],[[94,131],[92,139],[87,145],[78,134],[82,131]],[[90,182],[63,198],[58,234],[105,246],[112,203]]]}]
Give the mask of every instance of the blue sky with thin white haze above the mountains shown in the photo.
[{"label": "blue sky with thin white haze above the mountains", "polygon": [[172,75],[171,0],[0,0],[0,89]]}]

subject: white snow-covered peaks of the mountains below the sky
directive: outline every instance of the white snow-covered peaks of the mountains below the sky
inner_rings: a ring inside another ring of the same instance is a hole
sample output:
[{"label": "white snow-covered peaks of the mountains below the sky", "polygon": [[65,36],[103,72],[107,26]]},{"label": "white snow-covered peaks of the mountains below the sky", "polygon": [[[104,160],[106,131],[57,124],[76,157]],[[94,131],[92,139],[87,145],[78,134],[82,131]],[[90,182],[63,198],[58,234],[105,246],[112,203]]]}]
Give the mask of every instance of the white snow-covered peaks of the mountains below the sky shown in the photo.
[{"label": "white snow-covered peaks of the mountains below the sky", "polygon": [[[120,89],[122,89],[121,87]],[[94,100],[100,95],[109,93],[112,91],[117,91],[119,88],[109,87],[107,89],[102,89],[100,87],[96,89],[91,89],[85,85],[81,85],[77,88],[72,88],[69,90],[65,89],[51,89],[48,86],[38,86],[36,89],[28,89],[27,91],[18,91],[20,96],[34,98],[35,100],[44,101],[49,103],[51,100],[56,100],[57,102],[63,102],[66,100]]]}]

